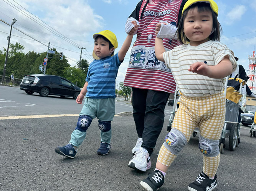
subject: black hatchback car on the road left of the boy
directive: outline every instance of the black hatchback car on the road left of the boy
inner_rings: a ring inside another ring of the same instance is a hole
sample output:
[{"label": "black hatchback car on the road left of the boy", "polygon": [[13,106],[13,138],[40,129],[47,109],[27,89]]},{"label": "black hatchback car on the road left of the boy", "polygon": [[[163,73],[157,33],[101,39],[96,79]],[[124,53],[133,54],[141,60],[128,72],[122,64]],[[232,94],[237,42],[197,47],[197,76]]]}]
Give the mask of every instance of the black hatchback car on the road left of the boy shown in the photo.
[{"label": "black hatchback car on the road left of the boy", "polygon": [[39,93],[41,96],[59,95],[60,97],[73,97],[76,99],[81,89],[69,80],[60,76],[31,74],[25,75],[20,83],[20,89],[27,94]]}]

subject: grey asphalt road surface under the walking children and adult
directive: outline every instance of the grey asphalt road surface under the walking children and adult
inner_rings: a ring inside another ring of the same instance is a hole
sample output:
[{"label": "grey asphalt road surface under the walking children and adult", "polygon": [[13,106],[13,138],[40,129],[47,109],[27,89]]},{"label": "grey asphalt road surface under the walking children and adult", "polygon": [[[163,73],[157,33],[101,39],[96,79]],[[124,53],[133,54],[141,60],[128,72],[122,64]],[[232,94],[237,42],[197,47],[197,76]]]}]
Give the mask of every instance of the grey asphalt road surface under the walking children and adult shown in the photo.
[{"label": "grey asphalt road surface under the walking children and adult", "polygon": [[[116,104],[116,113],[121,110],[128,113],[119,114],[112,121],[109,154],[101,156],[96,153],[100,136],[97,120],[93,120],[75,159],[68,159],[56,154],[54,148],[68,143],[81,105],[69,98],[27,95],[18,88],[0,86],[0,190],[143,190],[140,180],[155,168],[157,153],[166,134],[168,116],[165,117],[167,120],[151,157],[152,167],[140,173],[128,167],[133,156],[132,147],[137,140],[133,117],[129,113],[132,107],[122,99],[116,103],[121,104]],[[168,110],[171,107],[167,106],[166,112]],[[52,117],[53,114],[74,116]],[[28,118],[35,115],[42,118]],[[17,116],[20,118],[11,119]],[[256,138],[250,138],[249,127],[244,126],[241,126],[240,137],[241,144],[235,151],[229,151],[227,147],[221,154],[215,191],[256,190]],[[187,185],[201,172],[202,163],[198,137],[192,137],[169,168],[159,191],[186,191]]]}]

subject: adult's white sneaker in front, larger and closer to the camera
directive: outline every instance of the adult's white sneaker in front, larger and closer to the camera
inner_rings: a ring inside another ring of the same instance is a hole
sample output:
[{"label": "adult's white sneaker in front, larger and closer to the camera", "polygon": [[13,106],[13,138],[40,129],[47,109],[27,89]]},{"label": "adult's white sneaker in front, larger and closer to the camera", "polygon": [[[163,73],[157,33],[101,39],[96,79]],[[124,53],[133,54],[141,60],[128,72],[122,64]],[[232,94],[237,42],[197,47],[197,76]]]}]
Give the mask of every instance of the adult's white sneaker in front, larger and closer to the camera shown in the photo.
[{"label": "adult's white sneaker in front, larger and closer to the camera", "polygon": [[151,167],[151,161],[147,149],[140,147],[139,151],[135,152],[132,160],[130,160],[128,167],[142,172],[149,170]]}]

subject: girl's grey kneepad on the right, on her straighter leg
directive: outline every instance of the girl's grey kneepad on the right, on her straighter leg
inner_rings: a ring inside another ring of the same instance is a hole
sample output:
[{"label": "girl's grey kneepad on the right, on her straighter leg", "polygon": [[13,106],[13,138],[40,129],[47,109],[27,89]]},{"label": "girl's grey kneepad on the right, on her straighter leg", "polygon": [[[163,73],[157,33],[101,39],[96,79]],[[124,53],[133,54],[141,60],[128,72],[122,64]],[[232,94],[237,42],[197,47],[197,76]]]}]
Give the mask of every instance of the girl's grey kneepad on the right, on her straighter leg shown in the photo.
[{"label": "girl's grey kneepad on the right, on her straighter leg", "polygon": [[219,142],[220,140],[211,140],[200,136],[198,146],[201,153],[203,153],[205,156],[216,157],[220,153]]}]

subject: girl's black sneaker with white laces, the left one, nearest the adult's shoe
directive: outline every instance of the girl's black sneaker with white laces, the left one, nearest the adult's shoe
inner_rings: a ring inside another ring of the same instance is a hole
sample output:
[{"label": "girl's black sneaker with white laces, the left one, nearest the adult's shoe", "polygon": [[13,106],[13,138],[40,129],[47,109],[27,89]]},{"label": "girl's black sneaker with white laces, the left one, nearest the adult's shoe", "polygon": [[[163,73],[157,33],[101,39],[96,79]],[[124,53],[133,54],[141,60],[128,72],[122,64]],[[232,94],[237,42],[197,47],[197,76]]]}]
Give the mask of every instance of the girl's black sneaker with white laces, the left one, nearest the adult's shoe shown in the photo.
[{"label": "girl's black sneaker with white laces, the left one, nearest the adult's shoe", "polygon": [[140,181],[140,185],[147,191],[156,191],[163,184],[164,175],[159,170],[155,170],[145,180]]}]

